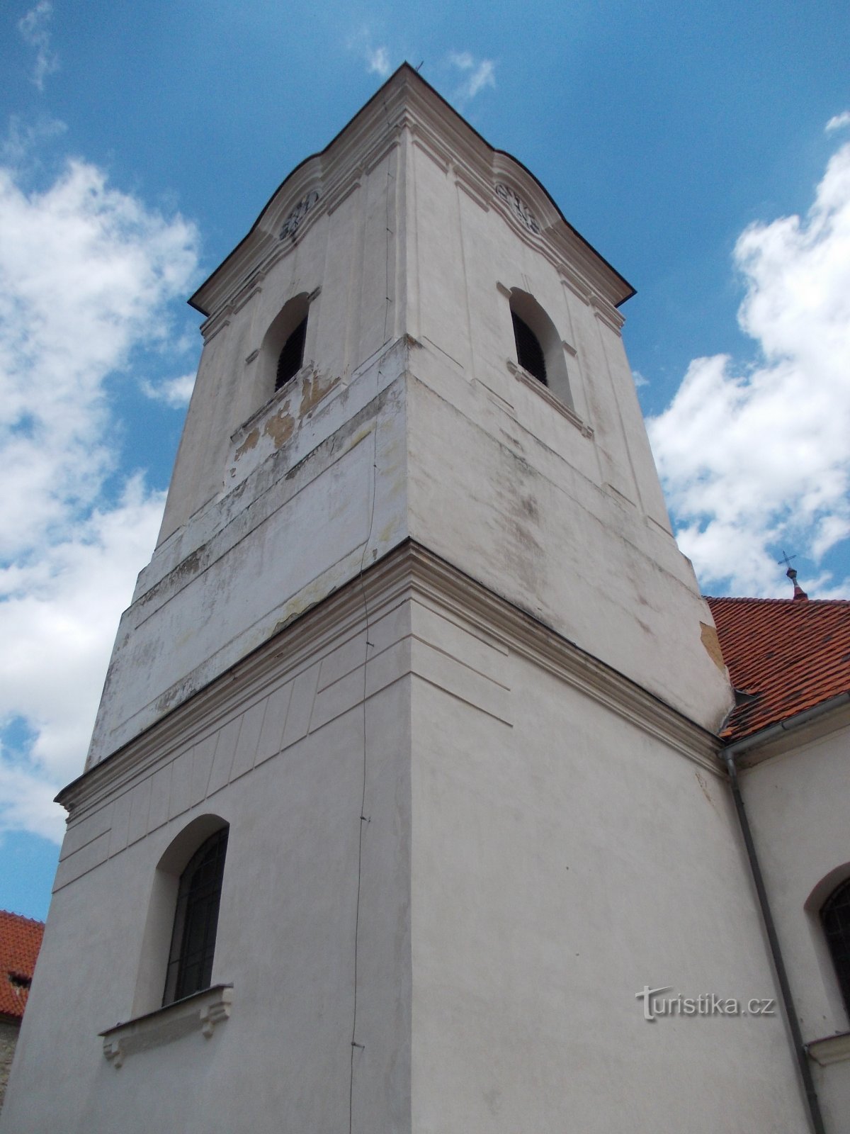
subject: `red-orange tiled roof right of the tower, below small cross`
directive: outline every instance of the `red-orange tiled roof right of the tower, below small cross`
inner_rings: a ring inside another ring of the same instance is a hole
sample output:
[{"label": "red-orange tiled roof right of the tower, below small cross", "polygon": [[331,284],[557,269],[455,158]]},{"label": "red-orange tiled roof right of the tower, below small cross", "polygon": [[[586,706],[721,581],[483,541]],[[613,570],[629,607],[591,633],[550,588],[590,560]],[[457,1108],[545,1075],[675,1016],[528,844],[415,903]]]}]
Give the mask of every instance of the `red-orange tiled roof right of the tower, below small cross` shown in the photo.
[{"label": "red-orange tiled roof right of the tower, below small cross", "polygon": [[850,601],[708,599],[736,689],[721,736],[740,739],[850,691]]}]

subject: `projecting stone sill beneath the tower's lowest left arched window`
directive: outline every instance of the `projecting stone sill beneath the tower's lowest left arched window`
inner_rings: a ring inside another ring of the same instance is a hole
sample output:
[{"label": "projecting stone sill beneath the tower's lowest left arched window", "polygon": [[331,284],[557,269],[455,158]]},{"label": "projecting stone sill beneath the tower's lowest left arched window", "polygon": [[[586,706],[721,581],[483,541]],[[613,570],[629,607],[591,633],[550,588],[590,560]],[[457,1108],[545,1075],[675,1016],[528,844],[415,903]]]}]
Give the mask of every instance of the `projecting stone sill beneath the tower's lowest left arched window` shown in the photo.
[{"label": "projecting stone sill beneath the tower's lowest left arched window", "polygon": [[103,1055],[117,1068],[128,1055],[171,1043],[198,1030],[209,1040],[215,1025],[229,1018],[232,998],[232,984],[213,984],[126,1024],[108,1027],[99,1033],[103,1038]]}]

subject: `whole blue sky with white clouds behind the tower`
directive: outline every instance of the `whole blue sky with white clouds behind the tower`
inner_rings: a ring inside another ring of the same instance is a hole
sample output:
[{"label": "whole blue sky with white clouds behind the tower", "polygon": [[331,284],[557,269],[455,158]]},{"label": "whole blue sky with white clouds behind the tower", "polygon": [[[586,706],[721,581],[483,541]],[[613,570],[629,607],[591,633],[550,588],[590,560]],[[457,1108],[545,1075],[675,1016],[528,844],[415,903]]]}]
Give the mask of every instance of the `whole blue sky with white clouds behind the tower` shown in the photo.
[{"label": "whole blue sky with white clouds behind the tower", "polygon": [[845,2],[7,2],[0,907],[46,913],[199,353],[185,305],[402,60],[638,295],[626,345],[709,593],[850,595]]}]

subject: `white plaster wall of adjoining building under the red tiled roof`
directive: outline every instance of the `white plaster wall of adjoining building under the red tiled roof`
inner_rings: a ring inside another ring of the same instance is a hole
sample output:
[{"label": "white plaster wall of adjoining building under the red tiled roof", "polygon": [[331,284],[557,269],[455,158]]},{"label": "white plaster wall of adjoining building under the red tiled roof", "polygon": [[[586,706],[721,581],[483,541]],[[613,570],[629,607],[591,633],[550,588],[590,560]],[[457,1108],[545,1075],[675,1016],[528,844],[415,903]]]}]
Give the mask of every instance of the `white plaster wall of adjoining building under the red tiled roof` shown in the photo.
[{"label": "white plaster wall of adjoining building under the red tiled roof", "polygon": [[[828,727],[831,726],[831,727]],[[821,905],[850,875],[847,840],[850,712],[836,710],[822,735],[784,741],[741,772],[741,794],[776,922],[805,1042],[850,1030],[823,937]],[[843,873],[841,868],[845,868]],[[823,883],[833,872],[838,877]],[[830,1134],[850,1132],[850,1063],[811,1064]]]}]

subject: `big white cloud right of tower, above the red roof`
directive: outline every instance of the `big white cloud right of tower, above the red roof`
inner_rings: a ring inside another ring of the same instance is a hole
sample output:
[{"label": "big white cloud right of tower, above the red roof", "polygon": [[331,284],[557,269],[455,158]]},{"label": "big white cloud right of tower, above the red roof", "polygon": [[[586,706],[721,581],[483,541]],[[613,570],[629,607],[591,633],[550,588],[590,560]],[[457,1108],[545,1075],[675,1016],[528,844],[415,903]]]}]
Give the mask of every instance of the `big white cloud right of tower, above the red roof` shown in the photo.
[{"label": "big white cloud right of tower, above the red roof", "polygon": [[734,262],[759,356],[694,359],[649,434],[704,589],[787,594],[781,543],[817,561],[850,533],[850,145],[808,215],[750,226]]}]

